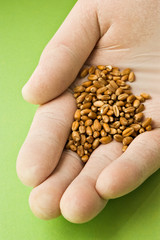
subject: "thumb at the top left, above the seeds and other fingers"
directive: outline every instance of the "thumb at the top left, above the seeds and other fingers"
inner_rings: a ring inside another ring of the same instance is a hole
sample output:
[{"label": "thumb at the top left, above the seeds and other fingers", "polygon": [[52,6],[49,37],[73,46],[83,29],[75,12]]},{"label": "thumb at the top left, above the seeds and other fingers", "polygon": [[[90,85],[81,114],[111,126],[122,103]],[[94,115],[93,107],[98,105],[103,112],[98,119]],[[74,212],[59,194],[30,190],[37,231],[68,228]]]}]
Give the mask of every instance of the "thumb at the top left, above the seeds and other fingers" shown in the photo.
[{"label": "thumb at the top left, above the seeds and other fingers", "polygon": [[45,47],[38,66],[22,89],[24,99],[43,104],[75,80],[99,38],[94,1],[78,1]]}]

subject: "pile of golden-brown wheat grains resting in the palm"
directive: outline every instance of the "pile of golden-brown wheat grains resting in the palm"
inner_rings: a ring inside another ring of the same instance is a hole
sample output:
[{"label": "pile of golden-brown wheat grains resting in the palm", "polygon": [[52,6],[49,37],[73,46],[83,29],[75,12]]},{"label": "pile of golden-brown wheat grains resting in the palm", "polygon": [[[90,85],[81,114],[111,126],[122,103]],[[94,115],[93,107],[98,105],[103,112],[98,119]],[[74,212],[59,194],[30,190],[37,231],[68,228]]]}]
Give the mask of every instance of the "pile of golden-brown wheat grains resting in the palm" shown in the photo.
[{"label": "pile of golden-brown wheat grains resting in the palm", "polygon": [[110,65],[85,68],[80,77],[88,80],[74,88],[77,110],[74,114],[72,131],[66,144],[86,162],[100,144],[113,139],[122,142],[124,152],[133,139],[150,131],[151,118],[143,119],[144,101],[147,93],[135,96],[129,84],[135,74],[127,68]]}]

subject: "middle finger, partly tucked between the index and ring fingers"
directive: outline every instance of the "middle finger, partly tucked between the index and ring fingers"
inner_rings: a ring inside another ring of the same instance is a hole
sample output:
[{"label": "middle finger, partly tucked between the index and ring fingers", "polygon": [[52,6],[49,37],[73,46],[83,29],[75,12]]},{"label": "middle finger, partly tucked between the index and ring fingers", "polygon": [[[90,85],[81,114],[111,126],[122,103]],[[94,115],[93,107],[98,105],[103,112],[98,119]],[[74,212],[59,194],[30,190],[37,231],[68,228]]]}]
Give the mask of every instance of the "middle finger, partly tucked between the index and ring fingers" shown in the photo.
[{"label": "middle finger, partly tucked between the index and ring fingers", "polygon": [[29,197],[32,212],[45,220],[58,217],[61,214],[59,203],[62,194],[82,168],[83,162],[78,155],[65,150],[51,176],[32,190]]}]

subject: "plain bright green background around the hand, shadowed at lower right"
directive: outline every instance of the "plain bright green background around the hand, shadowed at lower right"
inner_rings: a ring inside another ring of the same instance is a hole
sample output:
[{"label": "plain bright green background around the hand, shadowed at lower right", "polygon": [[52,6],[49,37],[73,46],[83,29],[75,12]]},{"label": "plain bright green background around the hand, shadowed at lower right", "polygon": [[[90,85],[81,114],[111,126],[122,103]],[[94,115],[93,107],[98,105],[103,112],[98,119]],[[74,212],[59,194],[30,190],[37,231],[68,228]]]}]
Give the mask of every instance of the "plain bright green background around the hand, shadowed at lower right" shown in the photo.
[{"label": "plain bright green background around the hand, shadowed at lower right", "polygon": [[0,240],[160,240],[159,171],[81,225],[34,217],[30,188],[16,176],[17,154],[36,110],[22,99],[21,88],[75,2],[0,0]]}]

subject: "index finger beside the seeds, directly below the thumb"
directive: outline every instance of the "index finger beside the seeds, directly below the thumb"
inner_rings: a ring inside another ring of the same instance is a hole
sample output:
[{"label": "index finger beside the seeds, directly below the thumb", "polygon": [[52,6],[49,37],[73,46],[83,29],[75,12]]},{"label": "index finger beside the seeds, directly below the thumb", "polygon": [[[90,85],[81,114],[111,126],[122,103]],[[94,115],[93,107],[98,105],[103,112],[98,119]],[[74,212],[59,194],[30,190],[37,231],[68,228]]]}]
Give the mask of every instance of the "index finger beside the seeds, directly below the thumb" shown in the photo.
[{"label": "index finger beside the seeds, directly below the thumb", "polygon": [[40,184],[56,167],[74,111],[75,101],[69,92],[38,108],[17,159],[17,173],[25,185]]}]

